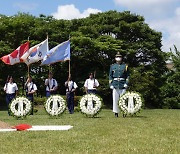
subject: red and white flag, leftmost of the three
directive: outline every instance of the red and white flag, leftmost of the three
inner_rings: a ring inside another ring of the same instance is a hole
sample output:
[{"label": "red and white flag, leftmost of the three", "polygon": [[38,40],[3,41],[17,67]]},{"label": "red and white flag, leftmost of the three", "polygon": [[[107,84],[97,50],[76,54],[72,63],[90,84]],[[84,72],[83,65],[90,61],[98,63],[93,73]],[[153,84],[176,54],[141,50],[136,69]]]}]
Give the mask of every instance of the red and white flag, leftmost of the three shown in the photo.
[{"label": "red and white flag, leftmost of the three", "polygon": [[21,62],[21,57],[29,50],[29,42],[20,45],[12,53],[1,57],[1,60],[8,65],[14,65]]}]

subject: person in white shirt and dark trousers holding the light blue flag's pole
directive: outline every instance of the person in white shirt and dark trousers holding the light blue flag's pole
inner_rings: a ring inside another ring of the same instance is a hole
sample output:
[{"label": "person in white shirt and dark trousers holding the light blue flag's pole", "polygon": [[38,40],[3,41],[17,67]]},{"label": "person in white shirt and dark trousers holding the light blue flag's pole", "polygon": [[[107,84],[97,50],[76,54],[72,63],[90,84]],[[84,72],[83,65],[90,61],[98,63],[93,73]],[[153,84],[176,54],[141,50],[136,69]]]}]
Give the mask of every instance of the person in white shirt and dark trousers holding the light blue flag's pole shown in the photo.
[{"label": "person in white shirt and dark trousers holding the light blue flag's pole", "polygon": [[71,75],[68,77],[65,82],[66,87],[66,98],[67,98],[67,106],[70,114],[74,113],[74,92],[78,88],[76,82],[71,79]]}]

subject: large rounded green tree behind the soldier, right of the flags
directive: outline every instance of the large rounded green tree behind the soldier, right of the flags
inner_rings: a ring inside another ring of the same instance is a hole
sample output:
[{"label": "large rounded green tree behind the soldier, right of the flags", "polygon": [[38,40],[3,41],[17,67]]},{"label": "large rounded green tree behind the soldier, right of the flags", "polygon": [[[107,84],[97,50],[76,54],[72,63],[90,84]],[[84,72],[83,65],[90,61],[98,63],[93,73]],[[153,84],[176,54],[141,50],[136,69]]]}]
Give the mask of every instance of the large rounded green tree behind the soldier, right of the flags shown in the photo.
[{"label": "large rounded green tree behind the soldier, right of the flags", "polygon": [[[76,55],[73,70],[79,73],[76,78],[82,81],[88,71],[97,70],[102,82],[108,84],[109,66],[120,51],[131,71],[129,90],[140,92],[146,106],[160,107],[160,77],[166,71],[161,33],[150,29],[143,17],[128,11],[91,15],[79,20],[78,25],[71,32],[72,52]],[[90,63],[93,65],[88,68]],[[102,87],[100,94],[110,100],[111,91],[107,88]]]}]

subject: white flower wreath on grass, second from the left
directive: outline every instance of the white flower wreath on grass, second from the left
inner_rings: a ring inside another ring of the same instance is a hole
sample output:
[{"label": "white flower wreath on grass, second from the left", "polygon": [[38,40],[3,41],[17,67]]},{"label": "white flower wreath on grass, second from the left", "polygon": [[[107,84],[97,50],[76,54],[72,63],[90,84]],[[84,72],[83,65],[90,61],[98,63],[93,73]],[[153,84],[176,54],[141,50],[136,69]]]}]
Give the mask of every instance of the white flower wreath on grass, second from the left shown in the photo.
[{"label": "white flower wreath on grass, second from the left", "polygon": [[45,102],[45,109],[51,116],[60,115],[66,109],[65,100],[60,95],[52,95]]}]

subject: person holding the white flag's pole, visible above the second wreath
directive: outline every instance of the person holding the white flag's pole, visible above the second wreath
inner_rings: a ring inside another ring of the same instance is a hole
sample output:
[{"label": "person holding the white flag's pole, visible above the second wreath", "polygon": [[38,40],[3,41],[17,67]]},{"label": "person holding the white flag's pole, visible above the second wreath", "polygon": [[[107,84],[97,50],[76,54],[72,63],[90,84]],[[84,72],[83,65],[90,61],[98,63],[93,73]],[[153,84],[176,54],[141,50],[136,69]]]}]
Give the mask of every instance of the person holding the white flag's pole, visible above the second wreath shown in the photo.
[{"label": "person holding the white flag's pole, visible above the second wreath", "polygon": [[58,89],[58,84],[56,79],[53,79],[52,72],[49,72],[48,79],[45,80],[46,85],[46,97],[56,94]]}]

